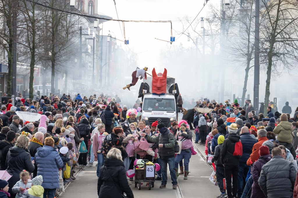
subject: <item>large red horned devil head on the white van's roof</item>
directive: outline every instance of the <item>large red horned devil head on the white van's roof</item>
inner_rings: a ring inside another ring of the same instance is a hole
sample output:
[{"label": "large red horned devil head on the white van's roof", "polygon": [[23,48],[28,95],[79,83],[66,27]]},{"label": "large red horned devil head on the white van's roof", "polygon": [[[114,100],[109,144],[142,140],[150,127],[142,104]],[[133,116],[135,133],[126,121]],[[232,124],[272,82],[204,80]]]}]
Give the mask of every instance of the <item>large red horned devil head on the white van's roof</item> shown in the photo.
[{"label": "large red horned devil head on the white van's roof", "polygon": [[152,70],[152,93],[162,94],[167,92],[167,69],[164,73],[156,74],[155,68]]}]

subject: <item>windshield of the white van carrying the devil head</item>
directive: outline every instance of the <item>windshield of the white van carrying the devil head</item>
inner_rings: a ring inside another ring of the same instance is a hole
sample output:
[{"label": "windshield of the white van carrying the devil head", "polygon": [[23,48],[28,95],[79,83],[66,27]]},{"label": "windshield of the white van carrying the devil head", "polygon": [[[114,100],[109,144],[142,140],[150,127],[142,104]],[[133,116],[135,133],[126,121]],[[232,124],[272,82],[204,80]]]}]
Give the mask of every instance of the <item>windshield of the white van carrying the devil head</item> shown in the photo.
[{"label": "windshield of the white van carrying the devil head", "polygon": [[175,111],[175,100],[169,98],[145,98],[142,110]]}]

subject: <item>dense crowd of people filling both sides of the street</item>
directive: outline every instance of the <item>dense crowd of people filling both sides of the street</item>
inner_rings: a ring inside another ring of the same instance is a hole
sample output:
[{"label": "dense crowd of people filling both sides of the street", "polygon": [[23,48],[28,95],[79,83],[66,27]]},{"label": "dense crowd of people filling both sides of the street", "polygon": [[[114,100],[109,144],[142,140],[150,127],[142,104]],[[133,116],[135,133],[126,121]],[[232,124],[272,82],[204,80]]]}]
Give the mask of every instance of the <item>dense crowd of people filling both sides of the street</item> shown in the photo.
[{"label": "dense crowd of people filling both sides of the street", "polygon": [[[133,178],[126,171],[134,169],[135,158],[160,164],[155,178],[161,180],[160,188],[167,186],[168,166],[176,189],[179,175],[188,179],[194,134],[194,143],[205,146],[206,160],[213,156],[219,197],[291,197],[293,192],[297,197],[298,108],[291,118],[272,113],[270,104],[267,114],[256,115],[250,100],[244,107],[237,100],[198,100],[195,106],[209,113],[181,108],[182,120],[166,127],[157,121],[145,125],[137,119],[137,106],[121,108],[120,101],[95,94],[17,97],[14,104],[8,99],[0,111],[0,169],[11,177],[0,180],[0,195],[53,198],[60,179],[74,182],[75,167],[97,161],[99,197],[134,197]],[[21,111],[40,114],[39,119],[23,120]],[[141,141],[148,142],[147,153],[136,154]],[[176,141],[181,141],[179,154]],[[280,182],[285,183],[282,189]]]}]

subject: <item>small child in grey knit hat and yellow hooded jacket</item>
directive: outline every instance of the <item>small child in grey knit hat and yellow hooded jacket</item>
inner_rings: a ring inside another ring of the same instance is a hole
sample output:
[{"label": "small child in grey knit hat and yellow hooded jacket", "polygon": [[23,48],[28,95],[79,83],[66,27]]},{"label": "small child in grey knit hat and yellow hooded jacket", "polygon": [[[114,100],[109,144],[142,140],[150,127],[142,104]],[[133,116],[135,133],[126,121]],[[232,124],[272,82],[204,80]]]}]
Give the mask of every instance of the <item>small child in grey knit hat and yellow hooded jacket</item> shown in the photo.
[{"label": "small child in grey knit hat and yellow hooded jacket", "polygon": [[43,182],[42,176],[38,175],[32,179],[31,188],[26,190],[22,195],[22,198],[43,198],[44,197],[44,187],[41,186]]}]

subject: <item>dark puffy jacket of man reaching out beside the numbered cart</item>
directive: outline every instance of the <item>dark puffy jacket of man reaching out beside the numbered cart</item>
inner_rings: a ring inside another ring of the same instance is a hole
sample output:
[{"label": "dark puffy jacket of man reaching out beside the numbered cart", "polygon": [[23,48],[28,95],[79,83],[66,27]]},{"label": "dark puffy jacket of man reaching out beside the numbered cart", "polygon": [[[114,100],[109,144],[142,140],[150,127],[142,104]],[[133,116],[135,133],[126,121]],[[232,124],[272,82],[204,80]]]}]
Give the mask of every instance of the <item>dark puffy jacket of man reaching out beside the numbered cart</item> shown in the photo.
[{"label": "dark puffy jacket of man reaching out beside the numbered cart", "polygon": [[173,158],[175,157],[175,137],[170,130],[167,129],[163,133],[159,133],[158,136],[152,137],[146,135],[146,138],[150,142],[155,142],[159,144],[163,144],[163,147],[158,147],[158,154],[161,159]]}]

